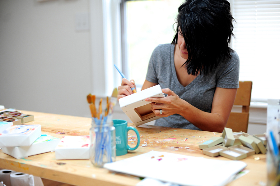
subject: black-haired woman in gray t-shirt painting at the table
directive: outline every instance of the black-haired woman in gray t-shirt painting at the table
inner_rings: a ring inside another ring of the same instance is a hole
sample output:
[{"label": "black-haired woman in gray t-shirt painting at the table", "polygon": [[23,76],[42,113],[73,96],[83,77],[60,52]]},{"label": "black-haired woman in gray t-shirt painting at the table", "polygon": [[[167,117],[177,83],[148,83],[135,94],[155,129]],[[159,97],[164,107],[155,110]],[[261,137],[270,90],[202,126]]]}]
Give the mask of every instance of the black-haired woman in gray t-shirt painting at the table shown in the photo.
[{"label": "black-haired woman in gray t-shirt painting at the table", "polygon": [[[226,0],[186,0],[176,18],[171,44],[157,46],[142,90],[161,85],[166,98],[152,102],[155,125],[222,132],[239,87],[239,57]],[[118,99],[132,94],[134,81],[122,80]]]}]

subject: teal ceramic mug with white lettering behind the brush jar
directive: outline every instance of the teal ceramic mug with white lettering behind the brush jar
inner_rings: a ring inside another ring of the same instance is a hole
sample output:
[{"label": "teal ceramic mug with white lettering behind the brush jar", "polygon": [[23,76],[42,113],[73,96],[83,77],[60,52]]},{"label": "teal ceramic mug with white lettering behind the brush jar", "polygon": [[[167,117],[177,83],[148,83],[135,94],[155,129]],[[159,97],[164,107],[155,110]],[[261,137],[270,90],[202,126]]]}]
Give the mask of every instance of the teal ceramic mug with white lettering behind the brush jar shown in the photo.
[{"label": "teal ceramic mug with white lettering behind the brush jar", "polygon": [[[127,154],[127,150],[135,150],[140,144],[140,136],[138,130],[134,127],[128,127],[126,120],[113,120],[114,127],[116,128],[116,155],[121,156]],[[127,144],[127,132],[128,130],[134,130],[137,135],[137,145],[135,147],[129,147]]]}]

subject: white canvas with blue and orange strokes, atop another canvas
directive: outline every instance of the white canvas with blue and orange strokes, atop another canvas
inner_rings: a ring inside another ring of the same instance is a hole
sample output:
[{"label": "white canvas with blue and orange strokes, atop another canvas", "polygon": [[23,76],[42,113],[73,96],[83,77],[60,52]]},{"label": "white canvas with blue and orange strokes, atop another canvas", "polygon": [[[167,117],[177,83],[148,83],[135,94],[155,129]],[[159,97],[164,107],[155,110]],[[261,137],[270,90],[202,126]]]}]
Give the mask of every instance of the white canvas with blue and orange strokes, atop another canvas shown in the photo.
[{"label": "white canvas with blue and orange strokes, atop another canvas", "polygon": [[12,125],[0,133],[0,147],[30,146],[41,134],[41,125]]}]

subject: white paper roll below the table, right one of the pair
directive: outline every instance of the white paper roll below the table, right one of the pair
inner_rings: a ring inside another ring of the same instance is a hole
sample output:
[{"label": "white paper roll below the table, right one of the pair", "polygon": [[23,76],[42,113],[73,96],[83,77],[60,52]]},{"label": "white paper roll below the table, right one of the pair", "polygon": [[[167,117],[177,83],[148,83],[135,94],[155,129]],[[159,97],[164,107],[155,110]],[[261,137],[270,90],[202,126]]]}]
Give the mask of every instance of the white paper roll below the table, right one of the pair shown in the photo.
[{"label": "white paper roll below the table, right one of the pair", "polygon": [[11,186],[35,186],[33,175],[22,172],[13,172],[10,175]]}]

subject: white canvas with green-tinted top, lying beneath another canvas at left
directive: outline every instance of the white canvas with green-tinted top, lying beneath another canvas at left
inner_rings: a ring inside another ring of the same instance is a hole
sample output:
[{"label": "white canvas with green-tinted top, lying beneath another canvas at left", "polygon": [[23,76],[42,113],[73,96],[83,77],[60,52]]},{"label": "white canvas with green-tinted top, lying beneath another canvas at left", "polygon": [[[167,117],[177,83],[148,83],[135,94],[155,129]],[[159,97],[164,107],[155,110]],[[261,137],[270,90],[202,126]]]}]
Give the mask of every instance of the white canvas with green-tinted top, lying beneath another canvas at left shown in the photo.
[{"label": "white canvas with green-tinted top, lying beneath another canvas at left", "polygon": [[22,147],[3,147],[2,151],[16,159],[33,156],[36,154],[42,154],[45,152],[54,151],[57,144],[60,142],[59,138],[42,134],[34,143],[30,146]]}]

